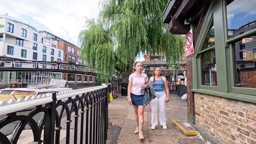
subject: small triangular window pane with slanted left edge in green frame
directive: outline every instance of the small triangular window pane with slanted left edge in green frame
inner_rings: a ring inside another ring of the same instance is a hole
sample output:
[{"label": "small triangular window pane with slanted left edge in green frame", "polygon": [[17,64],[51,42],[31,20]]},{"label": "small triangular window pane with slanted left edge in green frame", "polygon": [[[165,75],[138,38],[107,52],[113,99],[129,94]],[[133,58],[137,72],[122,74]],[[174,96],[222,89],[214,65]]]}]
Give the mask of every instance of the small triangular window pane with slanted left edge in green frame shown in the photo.
[{"label": "small triangular window pane with slanted left edge in green frame", "polygon": [[205,50],[208,47],[211,47],[214,45],[214,26],[213,26],[213,21],[211,23],[210,29],[208,30],[207,34],[206,34],[206,38],[205,41],[202,45],[202,49],[201,50]]}]

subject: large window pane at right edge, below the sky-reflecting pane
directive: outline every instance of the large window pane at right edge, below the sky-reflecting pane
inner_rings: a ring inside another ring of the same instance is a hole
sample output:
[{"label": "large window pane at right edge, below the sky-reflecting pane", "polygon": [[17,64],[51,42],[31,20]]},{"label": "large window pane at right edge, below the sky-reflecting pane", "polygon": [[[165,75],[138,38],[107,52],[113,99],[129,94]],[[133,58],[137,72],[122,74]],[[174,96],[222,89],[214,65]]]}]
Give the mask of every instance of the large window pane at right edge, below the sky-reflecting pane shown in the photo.
[{"label": "large window pane at right edge, below the sky-reflecting pane", "polygon": [[[240,49],[241,44],[243,49]],[[235,61],[235,87],[256,88],[256,34],[231,45]]]}]

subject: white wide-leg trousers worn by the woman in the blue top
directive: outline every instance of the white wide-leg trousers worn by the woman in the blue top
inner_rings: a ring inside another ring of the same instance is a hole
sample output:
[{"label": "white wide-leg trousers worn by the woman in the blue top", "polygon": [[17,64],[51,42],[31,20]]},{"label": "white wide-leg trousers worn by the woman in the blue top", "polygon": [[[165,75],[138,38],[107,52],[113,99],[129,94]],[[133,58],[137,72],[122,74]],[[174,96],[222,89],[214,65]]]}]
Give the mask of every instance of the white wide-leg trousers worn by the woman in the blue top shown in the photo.
[{"label": "white wide-leg trousers worn by the woman in the blue top", "polygon": [[166,125],[166,112],[165,112],[165,92],[156,92],[159,95],[158,98],[154,98],[151,101],[151,124],[152,127],[158,125],[158,105],[159,105],[159,121],[160,125]]}]

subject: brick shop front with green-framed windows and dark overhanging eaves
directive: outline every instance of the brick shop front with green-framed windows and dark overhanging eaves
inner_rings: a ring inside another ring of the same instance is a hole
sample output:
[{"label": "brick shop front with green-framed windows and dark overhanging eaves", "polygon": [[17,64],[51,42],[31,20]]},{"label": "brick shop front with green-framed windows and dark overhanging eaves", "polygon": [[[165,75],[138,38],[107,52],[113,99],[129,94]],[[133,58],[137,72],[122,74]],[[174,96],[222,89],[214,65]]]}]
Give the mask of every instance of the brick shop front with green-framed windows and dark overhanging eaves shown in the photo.
[{"label": "brick shop front with green-framed windows and dark overhanging eaves", "polygon": [[[172,34],[192,32],[188,120],[211,143],[256,143],[256,1],[172,0]],[[188,40],[190,43],[190,40]]]}]

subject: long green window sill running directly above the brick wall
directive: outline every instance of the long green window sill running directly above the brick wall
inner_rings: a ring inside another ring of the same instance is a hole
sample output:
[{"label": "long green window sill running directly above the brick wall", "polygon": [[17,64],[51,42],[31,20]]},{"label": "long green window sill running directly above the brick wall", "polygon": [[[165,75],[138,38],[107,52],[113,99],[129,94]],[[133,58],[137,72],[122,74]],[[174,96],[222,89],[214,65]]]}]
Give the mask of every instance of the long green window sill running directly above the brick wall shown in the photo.
[{"label": "long green window sill running directly above the brick wall", "polygon": [[222,92],[217,92],[217,91],[210,91],[207,89],[191,89],[190,91],[196,92],[196,93],[215,95],[218,97],[223,97],[223,98],[228,98],[228,99],[247,101],[249,103],[256,103],[256,97],[254,95],[237,94],[237,93],[222,93]]}]

